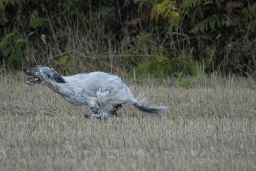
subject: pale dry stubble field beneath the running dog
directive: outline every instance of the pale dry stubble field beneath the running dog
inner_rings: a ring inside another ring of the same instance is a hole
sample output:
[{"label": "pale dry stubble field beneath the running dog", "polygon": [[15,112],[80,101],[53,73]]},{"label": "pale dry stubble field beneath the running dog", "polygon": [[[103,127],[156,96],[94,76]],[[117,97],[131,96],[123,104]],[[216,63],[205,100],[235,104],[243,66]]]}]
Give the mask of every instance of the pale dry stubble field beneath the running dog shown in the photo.
[{"label": "pale dry stubble field beneath the running dog", "polygon": [[106,120],[25,80],[0,76],[0,170],[256,170],[255,80],[124,79],[169,112],[126,105]]}]

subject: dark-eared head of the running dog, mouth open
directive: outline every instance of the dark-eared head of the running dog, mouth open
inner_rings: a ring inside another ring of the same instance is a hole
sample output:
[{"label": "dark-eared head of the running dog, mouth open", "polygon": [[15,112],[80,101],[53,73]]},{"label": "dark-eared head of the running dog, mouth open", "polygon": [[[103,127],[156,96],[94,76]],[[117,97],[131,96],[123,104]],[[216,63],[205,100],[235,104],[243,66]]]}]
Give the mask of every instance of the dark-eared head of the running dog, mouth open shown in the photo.
[{"label": "dark-eared head of the running dog, mouth open", "polygon": [[38,83],[48,83],[51,80],[58,83],[65,83],[65,80],[53,68],[44,65],[37,65],[34,68],[24,68],[26,75],[34,76],[27,78],[27,84],[33,85]]}]

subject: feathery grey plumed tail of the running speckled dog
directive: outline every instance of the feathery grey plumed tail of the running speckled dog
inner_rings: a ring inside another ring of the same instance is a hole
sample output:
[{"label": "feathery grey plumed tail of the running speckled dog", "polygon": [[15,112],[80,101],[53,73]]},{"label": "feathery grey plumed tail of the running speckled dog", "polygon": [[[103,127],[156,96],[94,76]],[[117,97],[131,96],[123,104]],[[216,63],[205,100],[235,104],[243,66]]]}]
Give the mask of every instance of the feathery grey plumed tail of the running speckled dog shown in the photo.
[{"label": "feathery grey plumed tail of the running speckled dog", "polygon": [[163,116],[162,112],[167,111],[165,106],[150,106],[148,105],[148,99],[144,96],[143,93],[140,93],[139,96],[131,100],[131,103],[140,111],[146,113],[155,113],[157,116]]}]

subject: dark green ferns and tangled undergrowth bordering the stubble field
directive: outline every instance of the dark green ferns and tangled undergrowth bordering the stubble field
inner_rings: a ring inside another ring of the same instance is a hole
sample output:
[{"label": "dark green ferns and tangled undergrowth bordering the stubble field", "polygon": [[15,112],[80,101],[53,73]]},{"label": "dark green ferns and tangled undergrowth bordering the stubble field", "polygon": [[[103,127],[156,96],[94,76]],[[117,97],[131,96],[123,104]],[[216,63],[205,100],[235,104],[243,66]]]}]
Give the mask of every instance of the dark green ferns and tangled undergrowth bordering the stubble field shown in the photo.
[{"label": "dark green ferns and tangled undergrowth bordering the stubble field", "polygon": [[253,0],[0,1],[0,67],[256,74]]}]

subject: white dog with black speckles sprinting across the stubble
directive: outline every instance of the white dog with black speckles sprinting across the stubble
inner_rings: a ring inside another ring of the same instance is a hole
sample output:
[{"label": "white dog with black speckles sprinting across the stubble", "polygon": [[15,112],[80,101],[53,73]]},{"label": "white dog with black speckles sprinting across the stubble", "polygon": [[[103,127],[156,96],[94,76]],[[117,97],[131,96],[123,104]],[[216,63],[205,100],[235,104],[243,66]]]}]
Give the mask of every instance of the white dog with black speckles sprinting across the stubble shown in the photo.
[{"label": "white dog with black speckles sprinting across the stubble", "polygon": [[59,93],[68,102],[88,105],[94,114],[86,114],[86,117],[111,116],[126,103],[132,103],[143,112],[159,116],[166,110],[164,106],[148,106],[146,97],[142,95],[135,99],[120,77],[106,72],[61,76],[53,68],[43,65],[24,68],[24,72],[38,77],[42,84]]}]

